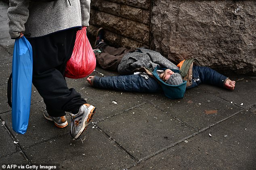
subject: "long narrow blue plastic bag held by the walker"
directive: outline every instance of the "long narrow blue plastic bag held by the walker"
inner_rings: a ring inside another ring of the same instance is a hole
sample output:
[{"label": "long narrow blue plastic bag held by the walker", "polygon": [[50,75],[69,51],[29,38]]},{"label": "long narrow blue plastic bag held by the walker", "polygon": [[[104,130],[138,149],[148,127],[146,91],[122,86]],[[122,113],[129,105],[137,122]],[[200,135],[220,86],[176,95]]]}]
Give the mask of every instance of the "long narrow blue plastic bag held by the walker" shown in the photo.
[{"label": "long narrow blue plastic bag held by the walker", "polygon": [[23,36],[15,40],[12,69],[12,123],[13,130],[20,134],[26,133],[29,121],[32,68],[32,47]]}]

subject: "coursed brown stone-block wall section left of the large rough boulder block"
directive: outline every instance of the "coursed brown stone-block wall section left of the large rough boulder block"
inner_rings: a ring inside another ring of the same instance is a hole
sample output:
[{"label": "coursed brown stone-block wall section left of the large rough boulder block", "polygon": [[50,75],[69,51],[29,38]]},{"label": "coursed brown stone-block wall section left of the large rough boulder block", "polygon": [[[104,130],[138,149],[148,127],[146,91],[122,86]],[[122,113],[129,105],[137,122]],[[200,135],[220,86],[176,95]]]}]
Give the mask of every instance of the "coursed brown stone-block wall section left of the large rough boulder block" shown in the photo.
[{"label": "coursed brown stone-block wall section left of the large rough boulder block", "polygon": [[149,47],[150,0],[92,0],[88,32],[105,29],[106,41],[122,47]]}]

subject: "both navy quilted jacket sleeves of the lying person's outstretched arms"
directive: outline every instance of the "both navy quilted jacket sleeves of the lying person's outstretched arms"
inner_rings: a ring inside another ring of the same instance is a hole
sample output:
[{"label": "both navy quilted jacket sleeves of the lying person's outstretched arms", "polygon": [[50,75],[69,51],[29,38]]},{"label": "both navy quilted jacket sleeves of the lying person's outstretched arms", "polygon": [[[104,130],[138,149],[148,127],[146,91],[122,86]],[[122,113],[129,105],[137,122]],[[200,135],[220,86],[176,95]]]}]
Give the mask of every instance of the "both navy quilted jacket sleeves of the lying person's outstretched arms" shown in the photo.
[{"label": "both navy quilted jacket sleeves of the lying person's outstretched arms", "polygon": [[[219,74],[215,70],[208,67],[193,66],[192,85],[187,88],[196,87],[201,83],[211,84],[219,87],[224,86],[227,77]],[[120,90],[128,92],[161,92],[162,87],[152,77],[148,79],[140,75],[127,76],[109,76],[98,77],[94,76],[93,86],[96,88],[104,88],[111,90]]]}]

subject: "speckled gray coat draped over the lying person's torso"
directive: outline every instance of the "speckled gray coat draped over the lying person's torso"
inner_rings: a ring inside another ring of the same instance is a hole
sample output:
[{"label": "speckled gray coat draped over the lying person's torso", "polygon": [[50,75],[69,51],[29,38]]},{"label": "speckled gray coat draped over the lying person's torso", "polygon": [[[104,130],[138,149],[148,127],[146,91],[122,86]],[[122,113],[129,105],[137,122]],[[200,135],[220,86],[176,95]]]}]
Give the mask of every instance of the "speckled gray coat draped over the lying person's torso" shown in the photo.
[{"label": "speckled gray coat draped over the lying person's torso", "polygon": [[118,65],[118,73],[122,75],[131,74],[135,69],[145,67],[154,70],[156,67],[176,69],[179,68],[166,59],[159,52],[150,49],[138,48],[133,53],[126,53]]}]

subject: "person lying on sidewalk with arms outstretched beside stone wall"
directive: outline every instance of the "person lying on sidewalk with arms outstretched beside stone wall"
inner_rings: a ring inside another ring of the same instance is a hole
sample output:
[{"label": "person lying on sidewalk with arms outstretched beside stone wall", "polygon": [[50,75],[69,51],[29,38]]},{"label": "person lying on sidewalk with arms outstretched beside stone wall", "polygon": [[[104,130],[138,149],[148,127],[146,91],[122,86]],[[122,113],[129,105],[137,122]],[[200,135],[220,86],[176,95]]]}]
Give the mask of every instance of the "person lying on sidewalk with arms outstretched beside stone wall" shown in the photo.
[{"label": "person lying on sidewalk with arms outstretched beside stone wall", "polygon": [[183,60],[176,66],[156,51],[111,47],[103,40],[103,29],[97,31],[95,45],[97,64],[104,69],[118,71],[122,75],[89,76],[87,81],[96,88],[129,92],[164,91],[169,98],[182,98],[185,88],[193,88],[201,83],[229,90],[235,88],[235,81],[211,68],[196,66],[196,59]]}]

